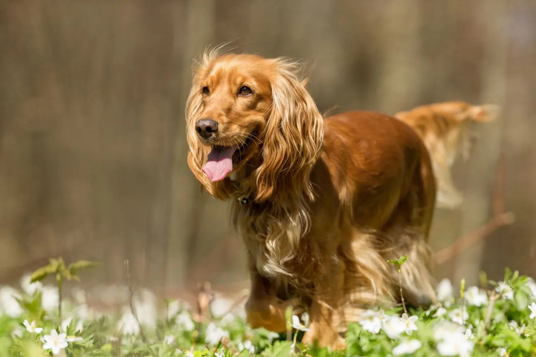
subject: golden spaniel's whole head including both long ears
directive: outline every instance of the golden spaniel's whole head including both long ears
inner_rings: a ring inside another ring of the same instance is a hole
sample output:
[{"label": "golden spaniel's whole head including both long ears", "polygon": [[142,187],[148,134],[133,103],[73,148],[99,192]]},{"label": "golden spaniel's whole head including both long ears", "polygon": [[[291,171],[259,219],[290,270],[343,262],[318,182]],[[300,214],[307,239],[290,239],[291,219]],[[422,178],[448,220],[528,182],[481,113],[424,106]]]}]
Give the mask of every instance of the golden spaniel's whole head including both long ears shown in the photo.
[{"label": "golden spaniel's whole head including both long ears", "polygon": [[282,59],[207,52],[195,68],[186,108],[190,169],[216,198],[230,174],[247,172],[258,202],[305,190],[323,139],[323,119],[296,66]]}]

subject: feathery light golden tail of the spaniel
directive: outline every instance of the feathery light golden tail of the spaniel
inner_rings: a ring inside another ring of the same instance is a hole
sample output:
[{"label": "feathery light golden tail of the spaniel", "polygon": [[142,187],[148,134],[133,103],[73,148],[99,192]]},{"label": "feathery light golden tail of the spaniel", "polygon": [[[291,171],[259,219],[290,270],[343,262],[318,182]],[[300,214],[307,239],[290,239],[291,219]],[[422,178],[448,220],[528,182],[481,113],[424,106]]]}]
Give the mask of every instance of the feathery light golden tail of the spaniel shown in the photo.
[{"label": "feathery light golden tail of the spaniel", "polygon": [[450,169],[458,156],[469,157],[471,140],[468,125],[492,121],[499,111],[494,104],[445,102],[422,105],[394,115],[411,126],[428,149],[438,186],[437,207],[455,209],[463,202],[463,195],[454,185]]}]

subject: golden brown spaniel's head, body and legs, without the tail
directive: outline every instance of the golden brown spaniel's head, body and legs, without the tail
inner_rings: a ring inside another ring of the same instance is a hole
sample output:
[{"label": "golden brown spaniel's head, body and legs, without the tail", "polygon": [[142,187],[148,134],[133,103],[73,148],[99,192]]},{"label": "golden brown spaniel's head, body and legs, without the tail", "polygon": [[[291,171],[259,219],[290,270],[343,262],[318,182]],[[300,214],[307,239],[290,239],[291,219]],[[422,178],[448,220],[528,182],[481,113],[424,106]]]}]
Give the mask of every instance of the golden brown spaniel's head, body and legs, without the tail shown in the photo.
[{"label": "golden brown spaniel's head, body and legs, without the tail", "polygon": [[188,163],[232,202],[249,257],[249,323],[284,331],[291,305],[309,312],[304,342],[340,348],[363,309],[399,299],[387,259],[408,255],[406,300],[435,299],[426,243],[435,179],[409,126],[366,111],[324,119],[296,70],[206,53],[187,102]]}]

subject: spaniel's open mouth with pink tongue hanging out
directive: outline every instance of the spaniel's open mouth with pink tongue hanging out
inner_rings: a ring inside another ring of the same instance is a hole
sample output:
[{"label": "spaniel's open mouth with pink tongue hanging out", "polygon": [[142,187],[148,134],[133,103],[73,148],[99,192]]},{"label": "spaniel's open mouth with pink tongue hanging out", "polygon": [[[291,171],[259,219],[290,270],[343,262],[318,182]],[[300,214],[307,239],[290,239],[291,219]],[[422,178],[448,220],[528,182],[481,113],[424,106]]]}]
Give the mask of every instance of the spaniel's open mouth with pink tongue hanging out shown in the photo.
[{"label": "spaniel's open mouth with pink tongue hanging out", "polygon": [[233,165],[239,164],[247,156],[247,151],[257,138],[257,135],[258,131],[254,130],[239,145],[213,145],[203,172],[212,182],[223,180],[229,172],[233,171]]}]

